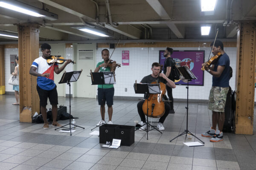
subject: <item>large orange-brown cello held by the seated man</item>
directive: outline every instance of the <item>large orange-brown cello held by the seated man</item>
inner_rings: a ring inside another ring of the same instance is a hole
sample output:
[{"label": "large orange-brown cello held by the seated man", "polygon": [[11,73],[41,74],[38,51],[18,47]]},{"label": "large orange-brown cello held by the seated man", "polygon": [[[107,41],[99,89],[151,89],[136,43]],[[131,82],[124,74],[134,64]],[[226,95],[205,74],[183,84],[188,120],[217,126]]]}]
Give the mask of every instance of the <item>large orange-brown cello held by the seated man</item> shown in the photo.
[{"label": "large orange-brown cello held by the seated man", "polygon": [[[152,82],[151,84],[156,84],[156,83],[157,82]],[[142,105],[143,113],[146,116],[159,118],[159,117],[162,117],[165,112],[163,96],[166,93],[166,85],[163,82],[159,82],[159,84],[160,84],[161,93],[150,94],[148,99],[145,99]]]}]

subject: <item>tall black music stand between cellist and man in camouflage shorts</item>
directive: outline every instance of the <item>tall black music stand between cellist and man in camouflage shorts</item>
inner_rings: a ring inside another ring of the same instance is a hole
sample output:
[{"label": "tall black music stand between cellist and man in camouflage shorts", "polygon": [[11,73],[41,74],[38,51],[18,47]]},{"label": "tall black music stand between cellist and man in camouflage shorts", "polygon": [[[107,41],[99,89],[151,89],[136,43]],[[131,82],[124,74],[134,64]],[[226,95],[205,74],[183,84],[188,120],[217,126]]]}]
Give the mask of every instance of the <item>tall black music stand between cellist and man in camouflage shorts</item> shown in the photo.
[{"label": "tall black music stand between cellist and man in camouflage shorts", "polygon": [[[187,115],[187,122],[186,122],[186,130],[183,133],[181,133],[180,135],[178,135],[175,138],[173,138],[172,140],[170,140],[170,142],[172,142],[174,139],[176,139],[177,137],[182,136],[184,134],[186,134],[186,136],[187,136],[187,133],[189,133],[190,135],[192,135],[196,139],[198,139],[198,137],[196,137],[193,133],[189,132],[189,130],[188,130],[188,119],[189,119],[189,116],[188,116],[189,115],[188,114],[188,111],[189,111],[189,82],[191,82],[192,79],[197,79],[197,78],[195,77],[195,75],[192,73],[192,71],[189,69],[189,67],[187,65],[181,66],[181,67],[177,67],[177,68],[180,71],[180,74],[184,77],[184,79],[187,80],[187,86],[186,86],[186,89],[187,89],[187,106],[185,107],[186,108],[186,115]],[[198,140],[200,140],[200,139],[198,139]],[[203,142],[203,141],[201,141],[201,142]]]}]

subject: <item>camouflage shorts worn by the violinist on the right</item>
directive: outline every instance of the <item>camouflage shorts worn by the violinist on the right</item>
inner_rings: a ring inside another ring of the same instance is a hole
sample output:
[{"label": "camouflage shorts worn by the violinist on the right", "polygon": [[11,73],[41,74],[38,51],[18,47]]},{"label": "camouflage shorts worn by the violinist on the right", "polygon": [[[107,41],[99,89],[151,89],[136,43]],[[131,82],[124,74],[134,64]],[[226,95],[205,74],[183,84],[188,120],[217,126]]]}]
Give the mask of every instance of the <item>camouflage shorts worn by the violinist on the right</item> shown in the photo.
[{"label": "camouflage shorts worn by the violinist on the right", "polygon": [[217,86],[212,86],[209,95],[209,110],[215,112],[224,112],[228,90],[228,87],[221,88]]}]

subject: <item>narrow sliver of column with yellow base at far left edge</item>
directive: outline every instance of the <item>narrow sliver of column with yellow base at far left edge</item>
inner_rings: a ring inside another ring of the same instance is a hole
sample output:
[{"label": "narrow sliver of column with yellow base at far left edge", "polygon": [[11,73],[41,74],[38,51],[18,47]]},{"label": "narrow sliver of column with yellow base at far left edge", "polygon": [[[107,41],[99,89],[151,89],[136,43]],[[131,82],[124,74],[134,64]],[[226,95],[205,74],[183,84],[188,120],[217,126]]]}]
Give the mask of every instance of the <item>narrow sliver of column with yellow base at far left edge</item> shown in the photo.
[{"label": "narrow sliver of column with yellow base at far left edge", "polygon": [[0,45],[0,94],[5,94],[4,45]]}]

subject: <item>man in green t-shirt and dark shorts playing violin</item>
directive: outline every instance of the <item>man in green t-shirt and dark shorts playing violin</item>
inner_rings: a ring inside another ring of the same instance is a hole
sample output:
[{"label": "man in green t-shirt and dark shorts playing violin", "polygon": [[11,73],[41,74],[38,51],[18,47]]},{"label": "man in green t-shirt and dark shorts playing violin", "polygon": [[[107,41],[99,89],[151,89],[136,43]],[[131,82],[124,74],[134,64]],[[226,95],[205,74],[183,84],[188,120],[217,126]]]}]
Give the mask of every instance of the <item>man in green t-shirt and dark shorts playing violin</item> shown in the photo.
[{"label": "man in green t-shirt and dark shorts playing violin", "polygon": [[[104,71],[115,71],[116,62],[111,62],[109,64],[109,51],[108,49],[102,50],[102,62],[98,62],[94,72],[104,72]],[[100,113],[102,119],[99,121],[97,126],[102,124],[107,124],[105,121],[105,103],[108,105],[108,124],[113,124],[112,114],[113,114],[113,97],[114,97],[114,85],[98,85],[98,102],[100,105]]]}]

